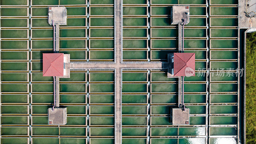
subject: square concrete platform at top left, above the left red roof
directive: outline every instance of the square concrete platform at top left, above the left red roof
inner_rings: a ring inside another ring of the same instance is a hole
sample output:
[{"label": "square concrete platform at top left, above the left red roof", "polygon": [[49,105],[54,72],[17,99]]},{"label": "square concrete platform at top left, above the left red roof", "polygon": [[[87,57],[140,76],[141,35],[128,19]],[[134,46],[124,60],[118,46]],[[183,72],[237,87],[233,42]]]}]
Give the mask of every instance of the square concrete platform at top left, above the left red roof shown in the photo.
[{"label": "square concrete platform at top left, above the left red roof", "polygon": [[64,6],[61,7],[48,7],[48,23],[52,25],[54,23],[59,25],[67,25],[67,9]]}]

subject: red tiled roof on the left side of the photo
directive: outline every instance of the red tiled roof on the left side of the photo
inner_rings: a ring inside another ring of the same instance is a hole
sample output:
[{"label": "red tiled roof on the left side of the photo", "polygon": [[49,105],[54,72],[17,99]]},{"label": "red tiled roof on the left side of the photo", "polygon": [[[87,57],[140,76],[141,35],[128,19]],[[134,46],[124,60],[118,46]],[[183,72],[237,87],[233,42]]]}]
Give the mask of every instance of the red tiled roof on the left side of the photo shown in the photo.
[{"label": "red tiled roof on the left side of the photo", "polygon": [[43,53],[43,76],[63,76],[64,53]]}]

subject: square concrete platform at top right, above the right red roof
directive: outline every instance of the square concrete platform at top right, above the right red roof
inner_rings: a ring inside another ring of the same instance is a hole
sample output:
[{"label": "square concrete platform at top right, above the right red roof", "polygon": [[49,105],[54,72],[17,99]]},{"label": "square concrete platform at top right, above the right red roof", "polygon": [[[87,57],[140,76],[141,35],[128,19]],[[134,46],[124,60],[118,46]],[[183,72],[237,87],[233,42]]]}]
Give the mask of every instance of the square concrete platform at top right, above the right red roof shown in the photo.
[{"label": "square concrete platform at top right, above the right red roof", "polygon": [[182,23],[189,23],[189,6],[188,5],[173,5],[171,8],[171,24],[175,25]]}]

